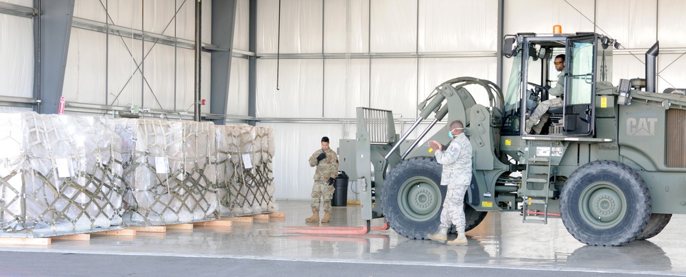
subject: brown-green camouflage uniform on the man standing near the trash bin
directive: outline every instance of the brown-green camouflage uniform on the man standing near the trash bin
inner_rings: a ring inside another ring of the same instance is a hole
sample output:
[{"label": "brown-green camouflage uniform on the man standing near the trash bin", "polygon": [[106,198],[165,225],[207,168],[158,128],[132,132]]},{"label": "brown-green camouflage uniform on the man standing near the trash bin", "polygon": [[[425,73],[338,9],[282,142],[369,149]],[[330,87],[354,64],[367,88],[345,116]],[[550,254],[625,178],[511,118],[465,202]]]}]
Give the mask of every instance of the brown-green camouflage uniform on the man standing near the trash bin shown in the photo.
[{"label": "brown-green camouflage uniform on the man standing near the trash bin", "polygon": [[320,199],[324,201],[324,211],[331,210],[331,199],[333,198],[333,185],[329,185],[329,178],[336,178],[338,176],[338,156],[336,152],[329,149],[326,153],[327,157],[317,163],[317,156],[322,154],[324,150],[318,149],[311,157],[309,157],[309,166],[317,167],[314,173],[314,185],[312,186],[312,202],[311,206],[314,210],[319,210]]}]

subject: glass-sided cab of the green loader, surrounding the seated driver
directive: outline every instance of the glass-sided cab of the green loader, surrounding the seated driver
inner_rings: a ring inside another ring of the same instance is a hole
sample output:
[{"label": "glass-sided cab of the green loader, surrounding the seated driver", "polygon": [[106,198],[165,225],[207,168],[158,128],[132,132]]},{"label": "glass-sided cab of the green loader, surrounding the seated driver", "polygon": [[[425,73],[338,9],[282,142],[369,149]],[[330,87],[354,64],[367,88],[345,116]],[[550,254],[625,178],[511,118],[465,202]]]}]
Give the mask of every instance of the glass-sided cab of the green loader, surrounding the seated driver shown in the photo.
[{"label": "glass-sided cab of the green loader, surrounding the seated driver", "polygon": [[594,33],[506,36],[504,47],[511,49],[504,49],[503,53],[511,58],[512,70],[501,134],[527,135],[526,120],[541,102],[555,98],[547,88],[558,83],[560,72],[555,69],[555,57],[565,54],[562,106],[545,111],[541,117],[543,128],[537,134],[594,136],[595,84],[612,79],[613,42]]}]

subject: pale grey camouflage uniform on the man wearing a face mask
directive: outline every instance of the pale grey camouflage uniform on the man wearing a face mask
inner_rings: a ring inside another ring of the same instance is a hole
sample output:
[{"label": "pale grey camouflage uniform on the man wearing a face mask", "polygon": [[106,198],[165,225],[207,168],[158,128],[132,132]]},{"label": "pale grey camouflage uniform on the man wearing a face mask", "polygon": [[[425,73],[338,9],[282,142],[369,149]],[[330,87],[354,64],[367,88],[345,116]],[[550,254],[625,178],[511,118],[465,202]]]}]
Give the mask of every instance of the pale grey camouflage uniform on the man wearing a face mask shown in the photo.
[{"label": "pale grey camouflage uniform on the man wearing a face mask", "polygon": [[464,133],[458,134],[445,152],[434,153],[436,161],[443,165],[440,184],[448,186],[440,212],[440,227],[450,228],[454,224],[458,231],[464,231],[464,193],[471,184],[472,175],[471,143]]}]

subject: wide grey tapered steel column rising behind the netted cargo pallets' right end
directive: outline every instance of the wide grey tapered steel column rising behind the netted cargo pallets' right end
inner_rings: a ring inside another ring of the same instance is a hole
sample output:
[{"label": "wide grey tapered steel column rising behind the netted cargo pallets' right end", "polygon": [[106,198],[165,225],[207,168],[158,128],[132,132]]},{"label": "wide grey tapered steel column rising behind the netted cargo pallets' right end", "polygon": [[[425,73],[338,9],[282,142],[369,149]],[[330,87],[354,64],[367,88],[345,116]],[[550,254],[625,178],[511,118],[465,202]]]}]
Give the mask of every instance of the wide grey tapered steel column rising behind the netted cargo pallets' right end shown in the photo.
[{"label": "wide grey tapered steel column rising behind the netted cargo pallets' right end", "polygon": [[[236,22],[236,0],[212,1],[212,44],[221,50],[212,51],[210,78],[210,113],[226,115],[228,84],[231,77],[233,34]],[[223,125],[226,119],[213,119]]]}]

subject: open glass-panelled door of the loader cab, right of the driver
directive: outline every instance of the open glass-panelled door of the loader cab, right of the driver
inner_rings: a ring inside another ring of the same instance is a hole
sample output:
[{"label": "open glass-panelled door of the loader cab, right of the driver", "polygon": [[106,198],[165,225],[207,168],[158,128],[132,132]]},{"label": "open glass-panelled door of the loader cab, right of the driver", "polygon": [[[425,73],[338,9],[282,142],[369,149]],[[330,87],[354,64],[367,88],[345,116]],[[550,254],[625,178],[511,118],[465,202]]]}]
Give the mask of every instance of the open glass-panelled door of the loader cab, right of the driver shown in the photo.
[{"label": "open glass-panelled door of the loader cab, right of the driver", "polygon": [[595,134],[595,80],[598,35],[567,38],[565,54],[565,136]]}]

